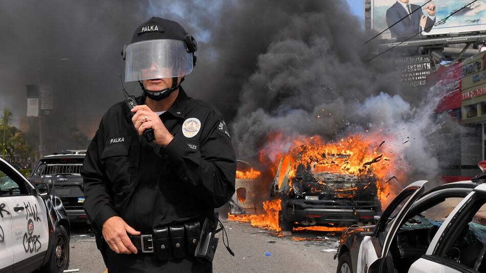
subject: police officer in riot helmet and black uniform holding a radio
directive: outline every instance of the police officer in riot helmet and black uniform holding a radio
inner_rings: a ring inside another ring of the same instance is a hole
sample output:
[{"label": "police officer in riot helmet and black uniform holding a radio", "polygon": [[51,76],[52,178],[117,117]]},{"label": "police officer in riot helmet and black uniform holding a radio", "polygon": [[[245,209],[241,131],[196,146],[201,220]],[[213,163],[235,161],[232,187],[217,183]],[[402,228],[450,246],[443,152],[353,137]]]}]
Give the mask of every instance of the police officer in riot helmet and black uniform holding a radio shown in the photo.
[{"label": "police officer in riot helmet and black uniform holding a radio", "polygon": [[[194,247],[203,221],[234,193],[236,161],[221,113],[180,85],[196,49],[178,22],[152,17],[123,51],[125,81],[143,95],[131,110],[109,108],[81,172],[109,272],[212,271]],[[153,141],[142,137],[148,129]]]}]

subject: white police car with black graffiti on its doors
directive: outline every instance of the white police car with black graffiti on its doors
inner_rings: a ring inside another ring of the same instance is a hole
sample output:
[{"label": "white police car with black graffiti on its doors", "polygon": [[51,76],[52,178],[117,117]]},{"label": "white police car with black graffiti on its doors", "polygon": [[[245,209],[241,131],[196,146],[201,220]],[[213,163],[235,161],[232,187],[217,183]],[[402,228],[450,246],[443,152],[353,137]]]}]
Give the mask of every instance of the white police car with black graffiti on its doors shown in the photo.
[{"label": "white police car with black graffiti on its doors", "polygon": [[62,272],[68,266],[69,221],[61,200],[0,158],[0,272]]}]

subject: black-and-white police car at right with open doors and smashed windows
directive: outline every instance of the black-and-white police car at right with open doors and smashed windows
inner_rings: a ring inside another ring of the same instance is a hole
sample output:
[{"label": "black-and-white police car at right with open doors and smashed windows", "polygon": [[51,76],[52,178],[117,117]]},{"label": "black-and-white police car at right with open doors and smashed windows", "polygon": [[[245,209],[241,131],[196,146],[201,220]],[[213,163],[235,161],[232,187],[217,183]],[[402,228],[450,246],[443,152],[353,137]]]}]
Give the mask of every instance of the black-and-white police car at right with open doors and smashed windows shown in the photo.
[{"label": "black-and-white police car at right with open doors and smashed windows", "polygon": [[430,190],[409,185],[376,225],[343,233],[337,272],[486,272],[484,182],[483,173]]}]

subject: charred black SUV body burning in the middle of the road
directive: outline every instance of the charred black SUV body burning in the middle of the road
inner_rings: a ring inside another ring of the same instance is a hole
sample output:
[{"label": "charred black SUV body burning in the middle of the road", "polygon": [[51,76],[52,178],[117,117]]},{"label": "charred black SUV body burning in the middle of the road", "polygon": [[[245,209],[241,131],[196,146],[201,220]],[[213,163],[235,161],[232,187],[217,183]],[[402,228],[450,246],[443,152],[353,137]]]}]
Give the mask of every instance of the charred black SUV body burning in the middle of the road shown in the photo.
[{"label": "charred black SUV body burning in the middle of the road", "polygon": [[[291,161],[280,160],[273,182],[273,195],[281,198],[279,225],[292,231],[302,226],[349,226],[371,223],[381,212],[377,178],[372,172],[350,174],[341,171],[349,154],[298,155],[296,170]],[[285,170],[282,172],[282,168]]]}]

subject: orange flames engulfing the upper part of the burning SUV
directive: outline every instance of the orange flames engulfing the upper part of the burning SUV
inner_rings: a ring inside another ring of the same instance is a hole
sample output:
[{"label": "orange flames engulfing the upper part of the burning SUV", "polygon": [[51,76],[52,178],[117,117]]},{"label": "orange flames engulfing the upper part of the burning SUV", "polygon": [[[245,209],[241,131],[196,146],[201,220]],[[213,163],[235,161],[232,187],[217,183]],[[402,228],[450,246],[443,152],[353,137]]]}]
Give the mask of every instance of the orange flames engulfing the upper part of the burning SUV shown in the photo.
[{"label": "orange flames engulfing the upper part of the burning SUV", "polygon": [[[384,142],[393,143],[393,137],[383,131],[350,135],[337,142],[325,142],[319,136],[288,139],[277,133],[269,135],[266,147],[259,151],[259,158],[262,165],[271,162],[270,169],[275,170],[274,173],[280,158],[283,158],[278,174],[279,188],[286,172],[284,166],[288,166],[289,162],[289,183],[296,175],[299,164],[310,166],[312,172],[349,174],[363,178],[374,176],[378,180],[378,196],[384,208],[388,200],[392,200],[401,189],[400,185],[390,186],[390,177],[395,176],[403,181],[407,169],[407,164],[402,158],[397,158],[391,145],[383,145]],[[281,147],[288,149],[282,150]]]}]

